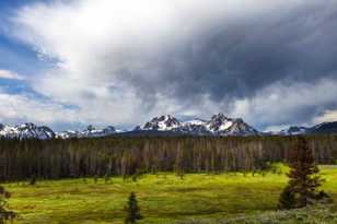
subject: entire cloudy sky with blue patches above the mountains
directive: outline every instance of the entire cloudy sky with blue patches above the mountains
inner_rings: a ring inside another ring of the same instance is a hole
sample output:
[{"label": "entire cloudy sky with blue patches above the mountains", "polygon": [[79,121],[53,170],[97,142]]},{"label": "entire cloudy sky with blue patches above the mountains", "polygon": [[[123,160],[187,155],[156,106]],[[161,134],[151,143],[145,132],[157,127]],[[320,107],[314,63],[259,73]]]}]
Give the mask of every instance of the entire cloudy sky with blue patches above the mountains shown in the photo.
[{"label": "entire cloudy sky with blue patches above the mountains", "polygon": [[0,122],[337,120],[336,0],[1,0]]}]

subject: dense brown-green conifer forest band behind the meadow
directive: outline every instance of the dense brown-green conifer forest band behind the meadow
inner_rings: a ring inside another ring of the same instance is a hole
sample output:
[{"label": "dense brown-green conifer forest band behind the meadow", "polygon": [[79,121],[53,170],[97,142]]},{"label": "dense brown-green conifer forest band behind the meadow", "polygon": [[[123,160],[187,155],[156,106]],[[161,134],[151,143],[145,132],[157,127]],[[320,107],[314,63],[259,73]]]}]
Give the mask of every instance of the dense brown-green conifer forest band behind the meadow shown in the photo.
[{"label": "dense brown-green conifer forest band behind the meadow", "polygon": [[[321,164],[337,160],[336,135],[306,137]],[[176,172],[260,170],[288,162],[298,137],[106,137],[0,140],[0,180]]]}]

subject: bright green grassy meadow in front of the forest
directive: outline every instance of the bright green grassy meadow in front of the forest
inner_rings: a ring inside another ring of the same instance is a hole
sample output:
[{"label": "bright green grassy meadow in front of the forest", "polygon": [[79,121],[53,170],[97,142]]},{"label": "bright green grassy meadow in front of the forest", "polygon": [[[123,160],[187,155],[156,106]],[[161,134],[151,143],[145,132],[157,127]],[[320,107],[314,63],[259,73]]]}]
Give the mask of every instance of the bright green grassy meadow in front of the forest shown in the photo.
[{"label": "bright green grassy meadow in front of the forest", "polygon": [[109,182],[101,178],[95,184],[93,178],[81,178],[44,180],[35,186],[11,182],[4,187],[12,193],[10,208],[20,215],[15,223],[123,223],[124,207],[130,191],[137,193],[144,216],[140,223],[146,224],[210,224],[231,220],[233,223],[263,223],[260,220],[271,223],[270,220],[287,221],[287,215],[294,222],[288,219],[286,223],[298,223],[298,219],[303,221],[305,214],[315,212],[327,216],[317,223],[337,223],[336,166],[321,166],[321,174],[326,179],[323,189],[336,204],[310,208],[310,211],[275,212],[280,191],[287,182],[284,172],[282,167],[282,174],[270,172],[255,176],[251,173],[188,174],[184,179],[174,174],[159,174],[144,175],[137,182],[113,177]]}]

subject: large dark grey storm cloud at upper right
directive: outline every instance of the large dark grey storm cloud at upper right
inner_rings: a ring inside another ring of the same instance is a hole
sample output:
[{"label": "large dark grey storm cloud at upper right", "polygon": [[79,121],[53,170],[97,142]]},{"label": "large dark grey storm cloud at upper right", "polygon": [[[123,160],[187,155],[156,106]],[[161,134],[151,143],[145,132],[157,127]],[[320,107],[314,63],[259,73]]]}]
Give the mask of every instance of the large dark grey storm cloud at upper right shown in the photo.
[{"label": "large dark grey storm cloud at upper right", "polygon": [[161,52],[156,63],[151,63],[153,70],[144,71],[160,75],[150,79],[144,73],[131,82],[142,94],[165,91],[188,97],[206,93],[219,101],[249,97],[278,81],[335,79],[337,2],[311,1],[288,10],[230,24],[219,21]]}]

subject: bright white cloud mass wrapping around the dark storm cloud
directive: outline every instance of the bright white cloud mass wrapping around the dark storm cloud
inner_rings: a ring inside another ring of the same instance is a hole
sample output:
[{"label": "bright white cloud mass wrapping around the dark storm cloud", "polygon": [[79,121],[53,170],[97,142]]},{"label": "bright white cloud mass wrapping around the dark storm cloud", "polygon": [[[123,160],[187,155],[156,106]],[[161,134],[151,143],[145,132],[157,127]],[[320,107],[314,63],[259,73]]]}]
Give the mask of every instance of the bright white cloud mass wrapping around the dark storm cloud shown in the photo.
[{"label": "bright white cloud mass wrapping around the dark storm cloud", "polygon": [[[228,104],[213,102],[207,94],[193,99],[174,98],[174,89],[165,81],[161,93],[144,97],[137,83],[128,81],[146,80],[149,85],[143,89],[151,90],[152,81],[161,80],[162,68],[158,64],[165,63],[158,63],[160,56],[170,58],[172,51],[181,49],[202,30],[217,30],[214,24],[219,22],[224,25],[246,16],[258,19],[262,12],[287,11],[290,5],[303,2],[74,0],[26,5],[13,17],[10,32],[32,46],[39,57],[58,61],[53,69],[30,79],[33,89],[54,103],[2,93],[2,104],[7,104],[3,106],[12,105],[9,111],[2,111],[3,117],[130,126],[159,114],[208,117],[222,110],[253,125],[291,122],[289,115],[312,106],[312,98],[316,103],[334,101],[335,91],[325,90],[337,90],[336,83],[322,81],[317,86],[277,83],[255,97]],[[128,75],[128,81],[123,75]],[[75,105],[78,109],[67,109],[61,104]]]}]

